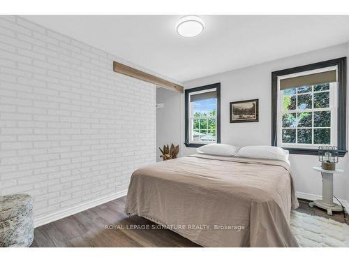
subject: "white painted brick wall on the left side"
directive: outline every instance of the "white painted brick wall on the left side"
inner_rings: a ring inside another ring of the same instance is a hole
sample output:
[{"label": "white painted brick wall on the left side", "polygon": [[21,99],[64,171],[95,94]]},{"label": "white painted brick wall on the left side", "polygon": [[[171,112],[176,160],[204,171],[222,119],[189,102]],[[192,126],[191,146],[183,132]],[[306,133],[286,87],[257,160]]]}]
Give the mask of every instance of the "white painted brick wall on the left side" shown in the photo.
[{"label": "white painted brick wall on the left side", "polygon": [[0,195],[31,194],[44,217],[123,191],[156,161],[156,88],[115,59],[0,16]]}]

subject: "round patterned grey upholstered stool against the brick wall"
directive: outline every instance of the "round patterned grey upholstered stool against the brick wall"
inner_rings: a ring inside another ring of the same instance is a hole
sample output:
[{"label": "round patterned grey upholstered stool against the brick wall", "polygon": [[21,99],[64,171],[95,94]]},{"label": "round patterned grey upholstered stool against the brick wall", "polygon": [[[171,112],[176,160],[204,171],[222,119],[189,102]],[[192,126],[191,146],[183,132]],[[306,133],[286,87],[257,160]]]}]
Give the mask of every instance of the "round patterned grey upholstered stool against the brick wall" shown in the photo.
[{"label": "round patterned grey upholstered stool against the brick wall", "polygon": [[29,247],[33,239],[31,196],[0,196],[0,247]]}]

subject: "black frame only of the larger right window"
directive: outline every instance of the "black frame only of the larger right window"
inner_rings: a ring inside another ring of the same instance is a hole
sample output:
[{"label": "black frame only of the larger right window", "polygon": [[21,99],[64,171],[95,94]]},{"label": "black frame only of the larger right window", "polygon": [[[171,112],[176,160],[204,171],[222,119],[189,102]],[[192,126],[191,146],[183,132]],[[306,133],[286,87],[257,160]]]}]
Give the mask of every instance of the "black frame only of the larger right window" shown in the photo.
[{"label": "black frame only of the larger right window", "polygon": [[[344,157],[346,154],[346,96],[347,96],[347,57],[340,57],[327,61],[321,61],[305,66],[297,66],[293,68],[283,69],[272,72],[272,145],[277,146],[277,117],[278,117],[278,77],[281,75],[290,75],[292,73],[300,73],[311,71],[314,69],[325,68],[329,66],[337,66],[338,73],[338,114],[337,114],[337,147],[339,157]],[[290,154],[310,154],[318,155],[317,149],[311,148],[291,148],[283,147]]]}]

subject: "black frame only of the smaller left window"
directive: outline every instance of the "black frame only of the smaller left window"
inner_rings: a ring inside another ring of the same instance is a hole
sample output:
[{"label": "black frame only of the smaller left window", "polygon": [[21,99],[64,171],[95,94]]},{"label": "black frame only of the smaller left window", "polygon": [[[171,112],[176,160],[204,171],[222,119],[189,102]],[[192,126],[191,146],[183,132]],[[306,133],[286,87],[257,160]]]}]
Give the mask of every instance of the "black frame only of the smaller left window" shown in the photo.
[{"label": "black frame only of the smaller left window", "polygon": [[201,147],[202,145],[207,145],[204,143],[190,143],[189,139],[189,94],[193,92],[203,91],[207,89],[216,88],[217,92],[217,123],[216,123],[216,132],[217,140],[216,143],[221,143],[221,83],[215,83],[211,85],[204,85],[202,87],[194,87],[185,90],[185,143],[186,147]]}]

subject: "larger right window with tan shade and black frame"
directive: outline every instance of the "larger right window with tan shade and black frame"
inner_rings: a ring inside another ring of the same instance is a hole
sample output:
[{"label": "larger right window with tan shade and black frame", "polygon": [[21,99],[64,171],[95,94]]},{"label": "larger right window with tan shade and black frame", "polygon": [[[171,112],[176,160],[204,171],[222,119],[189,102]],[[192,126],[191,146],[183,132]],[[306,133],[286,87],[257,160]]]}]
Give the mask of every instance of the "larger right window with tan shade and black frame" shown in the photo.
[{"label": "larger right window with tan shade and black frame", "polygon": [[346,152],[346,58],[272,73],[272,145],[318,154]]}]

